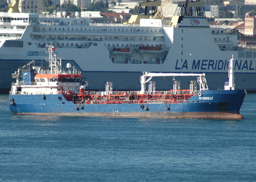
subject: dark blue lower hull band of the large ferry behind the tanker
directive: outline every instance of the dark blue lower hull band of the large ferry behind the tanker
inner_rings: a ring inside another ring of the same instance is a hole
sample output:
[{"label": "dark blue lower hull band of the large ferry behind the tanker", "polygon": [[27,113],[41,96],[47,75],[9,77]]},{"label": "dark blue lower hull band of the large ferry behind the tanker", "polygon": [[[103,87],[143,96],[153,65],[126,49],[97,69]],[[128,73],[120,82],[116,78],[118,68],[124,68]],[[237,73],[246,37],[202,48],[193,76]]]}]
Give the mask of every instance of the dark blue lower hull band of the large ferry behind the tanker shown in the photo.
[{"label": "dark blue lower hull band of the large ferry behind the tanker", "polygon": [[[14,73],[17,69],[17,65],[24,65],[25,63],[29,63],[31,60],[21,61],[21,60],[10,60],[3,61],[1,63],[0,68],[0,94],[8,94],[11,88],[11,83],[15,82],[14,78],[11,78],[11,74]],[[37,60],[36,63],[41,64],[42,61]],[[66,61],[63,60],[63,63],[72,63],[72,65],[76,65],[74,61]],[[46,62],[42,62],[46,65]],[[141,75],[141,72],[117,72],[117,71],[82,71],[82,75],[89,82],[88,89],[91,90],[102,90],[105,88],[106,81],[111,80],[113,82],[114,90],[139,90],[140,83],[138,82],[138,78]],[[175,71],[179,73],[179,71]],[[181,71],[180,71],[181,72]],[[197,73],[201,73],[197,71]],[[6,76],[7,75],[7,76]],[[246,91],[256,92],[255,73],[236,73],[235,84],[238,88],[245,89]],[[209,89],[222,89],[223,84],[227,81],[227,71],[217,73],[217,72],[208,72],[206,74],[207,82],[209,83]],[[191,78],[193,80],[195,78]],[[181,88],[187,88],[187,78],[178,78],[181,82]],[[157,90],[167,90],[172,88],[173,80],[172,78],[153,78],[152,81],[156,82]]]}]

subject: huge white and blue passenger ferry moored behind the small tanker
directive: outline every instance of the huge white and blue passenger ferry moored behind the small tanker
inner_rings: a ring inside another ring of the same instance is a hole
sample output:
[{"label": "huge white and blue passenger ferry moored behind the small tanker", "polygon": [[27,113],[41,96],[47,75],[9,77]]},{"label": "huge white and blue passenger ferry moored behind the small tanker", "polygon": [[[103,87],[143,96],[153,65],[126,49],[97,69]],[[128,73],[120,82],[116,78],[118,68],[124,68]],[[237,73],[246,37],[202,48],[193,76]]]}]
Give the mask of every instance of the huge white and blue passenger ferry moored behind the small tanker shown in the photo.
[{"label": "huge white and blue passenger ferry moored behind the small tanker", "polygon": [[[237,35],[225,29],[211,29],[201,1],[178,5],[171,24],[141,22],[94,24],[84,18],[1,13],[0,87],[10,88],[12,80],[5,75],[16,65],[31,60],[44,64],[45,45],[54,45],[64,63],[72,63],[89,78],[92,89],[102,89],[113,80],[116,90],[136,90],[141,71],[205,72],[211,88],[221,88],[233,53],[237,87],[256,90],[256,50],[238,47]],[[155,81],[159,90],[173,83],[171,78]]]}]

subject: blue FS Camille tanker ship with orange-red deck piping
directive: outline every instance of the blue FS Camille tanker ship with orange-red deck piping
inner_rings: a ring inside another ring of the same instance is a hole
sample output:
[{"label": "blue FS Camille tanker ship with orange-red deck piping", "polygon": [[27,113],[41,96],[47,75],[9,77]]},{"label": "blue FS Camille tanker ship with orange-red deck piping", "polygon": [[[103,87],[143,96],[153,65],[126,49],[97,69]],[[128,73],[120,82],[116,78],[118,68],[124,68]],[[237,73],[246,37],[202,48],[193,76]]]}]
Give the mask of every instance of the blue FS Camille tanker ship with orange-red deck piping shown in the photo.
[{"label": "blue FS Camille tanker ship with orange-red deck piping", "polygon": [[[246,91],[234,90],[233,58],[224,90],[208,90],[204,74],[143,72],[140,91],[113,91],[112,82],[106,82],[105,91],[87,91],[85,78],[71,64],[62,69],[54,51],[55,47],[47,46],[49,68],[31,62],[12,74],[16,82],[10,91],[10,110],[14,114],[243,119],[239,111]],[[150,81],[156,76],[173,76],[173,89],[157,91]],[[179,76],[196,76],[196,80],[181,90],[175,80]]]}]

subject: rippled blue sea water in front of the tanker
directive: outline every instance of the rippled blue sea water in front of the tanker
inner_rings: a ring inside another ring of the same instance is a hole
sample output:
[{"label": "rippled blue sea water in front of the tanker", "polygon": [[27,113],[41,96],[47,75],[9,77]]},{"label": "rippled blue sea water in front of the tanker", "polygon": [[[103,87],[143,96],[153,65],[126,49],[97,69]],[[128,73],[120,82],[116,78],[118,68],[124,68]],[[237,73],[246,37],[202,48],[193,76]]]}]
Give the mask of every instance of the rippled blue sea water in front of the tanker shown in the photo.
[{"label": "rippled blue sea water in front of the tanker", "polygon": [[256,94],[244,120],[14,115],[0,95],[0,181],[256,181]]}]

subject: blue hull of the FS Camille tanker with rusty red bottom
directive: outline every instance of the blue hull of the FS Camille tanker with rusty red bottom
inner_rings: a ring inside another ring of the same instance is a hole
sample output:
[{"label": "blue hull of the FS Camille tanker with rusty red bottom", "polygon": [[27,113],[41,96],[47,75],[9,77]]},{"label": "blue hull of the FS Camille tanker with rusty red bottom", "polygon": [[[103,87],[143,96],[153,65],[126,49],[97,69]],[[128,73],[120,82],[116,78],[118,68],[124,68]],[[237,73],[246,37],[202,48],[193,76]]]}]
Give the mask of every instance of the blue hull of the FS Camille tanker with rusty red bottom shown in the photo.
[{"label": "blue hull of the FS Camille tanker with rusty red bottom", "polygon": [[[60,95],[10,95],[10,110],[15,114],[34,115],[81,115],[109,117],[152,118],[209,118],[243,119],[239,111],[244,102],[245,90],[207,90],[194,95],[183,103],[143,104],[74,104],[59,100]],[[11,104],[11,99],[14,103]],[[169,109],[168,109],[169,108]]]}]

